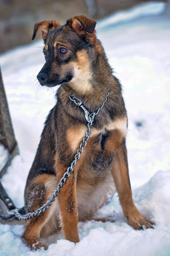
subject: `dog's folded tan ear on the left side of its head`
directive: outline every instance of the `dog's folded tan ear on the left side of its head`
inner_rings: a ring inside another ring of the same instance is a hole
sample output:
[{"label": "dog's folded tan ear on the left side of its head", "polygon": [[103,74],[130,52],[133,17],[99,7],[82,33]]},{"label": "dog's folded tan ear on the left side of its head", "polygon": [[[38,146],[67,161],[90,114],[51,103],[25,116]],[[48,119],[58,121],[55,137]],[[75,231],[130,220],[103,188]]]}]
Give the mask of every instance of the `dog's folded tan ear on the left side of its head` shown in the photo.
[{"label": "dog's folded tan ear on the left side of its head", "polygon": [[34,38],[37,35],[37,32],[40,30],[43,41],[46,41],[49,30],[52,31],[58,26],[60,26],[60,23],[56,20],[44,20],[44,21],[37,22],[34,26],[32,40],[34,40]]}]

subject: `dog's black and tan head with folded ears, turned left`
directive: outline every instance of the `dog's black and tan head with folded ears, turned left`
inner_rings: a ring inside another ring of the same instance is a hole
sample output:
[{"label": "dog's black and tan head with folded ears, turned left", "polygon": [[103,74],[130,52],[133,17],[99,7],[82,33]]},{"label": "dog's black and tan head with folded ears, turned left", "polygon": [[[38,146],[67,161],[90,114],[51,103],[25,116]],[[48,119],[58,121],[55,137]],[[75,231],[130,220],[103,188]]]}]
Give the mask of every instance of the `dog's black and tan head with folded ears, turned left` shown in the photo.
[{"label": "dog's black and tan head with folded ears, turned left", "polygon": [[32,40],[41,31],[44,41],[46,63],[37,75],[42,86],[90,79],[89,48],[95,45],[95,25],[94,20],[84,15],[67,20],[63,26],[56,20],[35,24]]}]

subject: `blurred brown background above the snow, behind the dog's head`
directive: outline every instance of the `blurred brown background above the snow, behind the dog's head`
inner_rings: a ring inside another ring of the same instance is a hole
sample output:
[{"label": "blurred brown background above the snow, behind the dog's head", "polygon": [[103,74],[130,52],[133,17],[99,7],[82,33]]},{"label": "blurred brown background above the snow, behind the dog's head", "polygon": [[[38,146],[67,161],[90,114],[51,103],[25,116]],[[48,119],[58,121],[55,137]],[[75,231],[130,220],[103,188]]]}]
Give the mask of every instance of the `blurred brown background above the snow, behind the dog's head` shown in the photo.
[{"label": "blurred brown background above the snow, behind the dog's head", "polygon": [[[29,43],[37,21],[57,19],[62,24],[76,14],[99,20],[147,2],[150,0],[0,0],[0,53]],[[168,8],[170,2],[164,2]]]}]

